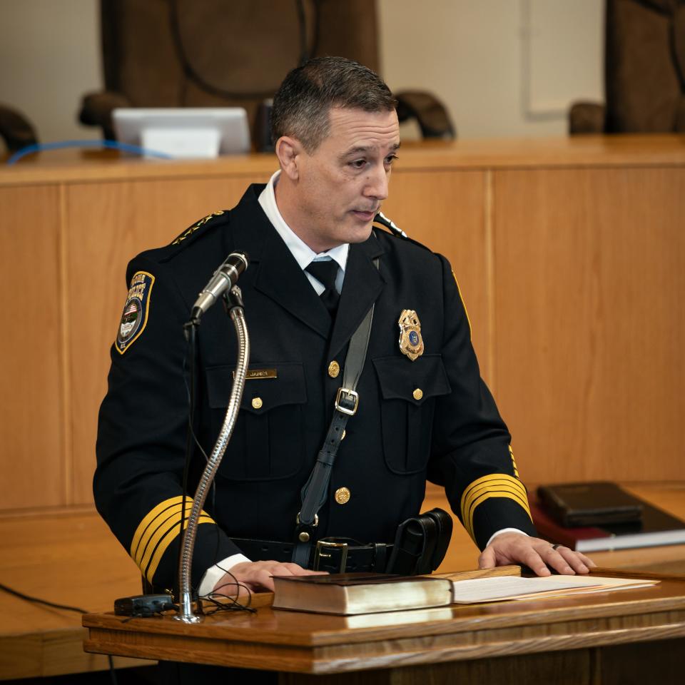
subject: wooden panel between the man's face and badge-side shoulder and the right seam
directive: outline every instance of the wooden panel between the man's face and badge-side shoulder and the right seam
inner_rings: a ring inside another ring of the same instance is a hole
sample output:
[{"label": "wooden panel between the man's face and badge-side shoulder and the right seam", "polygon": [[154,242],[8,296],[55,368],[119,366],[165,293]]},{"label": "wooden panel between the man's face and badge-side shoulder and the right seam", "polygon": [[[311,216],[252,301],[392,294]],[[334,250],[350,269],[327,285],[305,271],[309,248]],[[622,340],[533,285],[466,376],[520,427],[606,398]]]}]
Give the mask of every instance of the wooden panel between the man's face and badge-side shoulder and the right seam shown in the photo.
[{"label": "wooden panel between the man's face and badge-side shoulder and the right seam", "polygon": [[469,313],[481,374],[490,383],[485,183],[484,171],[405,171],[400,161],[382,210],[410,238],[450,260]]}]

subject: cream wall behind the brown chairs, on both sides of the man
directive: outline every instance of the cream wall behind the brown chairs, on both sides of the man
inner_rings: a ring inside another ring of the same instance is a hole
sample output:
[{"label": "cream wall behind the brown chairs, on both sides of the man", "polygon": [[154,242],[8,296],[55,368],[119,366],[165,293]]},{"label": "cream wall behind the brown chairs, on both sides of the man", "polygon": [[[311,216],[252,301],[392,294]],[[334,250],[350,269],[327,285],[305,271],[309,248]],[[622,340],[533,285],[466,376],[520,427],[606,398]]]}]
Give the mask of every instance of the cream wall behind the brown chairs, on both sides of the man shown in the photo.
[{"label": "cream wall behind the brown chairs, on both sides of the man", "polygon": [[[461,138],[562,135],[570,102],[602,98],[603,0],[377,2],[383,76],[439,96]],[[98,8],[0,0],[0,101],[42,141],[99,137],[76,122],[102,83]]]}]

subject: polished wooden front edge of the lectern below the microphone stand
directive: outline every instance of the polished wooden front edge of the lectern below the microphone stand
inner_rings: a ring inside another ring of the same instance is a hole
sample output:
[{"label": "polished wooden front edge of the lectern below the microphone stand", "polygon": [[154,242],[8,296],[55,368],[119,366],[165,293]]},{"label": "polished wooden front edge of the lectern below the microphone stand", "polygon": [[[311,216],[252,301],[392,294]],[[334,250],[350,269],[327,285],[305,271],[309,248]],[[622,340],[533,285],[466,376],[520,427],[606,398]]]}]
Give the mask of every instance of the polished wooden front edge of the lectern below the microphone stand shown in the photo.
[{"label": "polished wooden front edge of the lectern below the microphone stand", "polygon": [[[685,581],[677,581],[682,582]],[[569,612],[557,617],[547,615],[547,620],[543,614],[553,614],[553,611],[523,616],[519,621],[512,620],[510,615],[472,617],[459,626],[459,631],[454,630],[455,621],[445,620],[375,631],[357,629],[342,636],[338,630],[337,641],[325,644],[302,644],[303,640],[298,643],[292,639],[288,643],[288,636],[283,635],[280,635],[280,644],[276,644],[264,641],[274,637],[268,631],[259,635],[253,631],[251,636],[233,631],[230,636],[222,637],[223,631],[210,629],[205,631],[208,635],[203,636],[201,631],[193,635],[196,626],[183,624],[176,624],[178,627],[173,628],[176,634],[173,634],[168,626],[171,621],[166,621],[167,625],[156,622],[164,631],[142,635],[141,626],[133,621],[128,624],[128,631],[121,631],[118,628],[122,617],[91,614],[83,619],[90,629],[84,649],[119,656],[332,674],[685,637],[685,587],[670,600],[613,602],[595,607],[599,611],[585,607],[584,611],[570,612],[570,616]],[[615,609],[619,605],[622,611],[617,614]],[[621,620],[624,618],[625,621]],[[551,623],[557,624],[554,629],[550,628]],[[527,629],[522,630],[522,625]]]}]

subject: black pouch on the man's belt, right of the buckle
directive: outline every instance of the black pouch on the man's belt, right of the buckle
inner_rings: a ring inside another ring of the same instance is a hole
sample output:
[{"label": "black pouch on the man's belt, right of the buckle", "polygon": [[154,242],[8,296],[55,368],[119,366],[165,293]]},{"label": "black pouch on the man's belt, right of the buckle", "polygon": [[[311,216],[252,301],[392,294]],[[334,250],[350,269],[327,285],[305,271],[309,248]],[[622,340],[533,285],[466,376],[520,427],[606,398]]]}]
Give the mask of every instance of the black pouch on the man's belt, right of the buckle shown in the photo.
[{"label": "black pouch on the man's belt, right of the buckle", "polygon": [[452,517],[442,509],[411,517],[395,534],[386,573],[401,576],[429,574],[445,558],[452,537]]}]

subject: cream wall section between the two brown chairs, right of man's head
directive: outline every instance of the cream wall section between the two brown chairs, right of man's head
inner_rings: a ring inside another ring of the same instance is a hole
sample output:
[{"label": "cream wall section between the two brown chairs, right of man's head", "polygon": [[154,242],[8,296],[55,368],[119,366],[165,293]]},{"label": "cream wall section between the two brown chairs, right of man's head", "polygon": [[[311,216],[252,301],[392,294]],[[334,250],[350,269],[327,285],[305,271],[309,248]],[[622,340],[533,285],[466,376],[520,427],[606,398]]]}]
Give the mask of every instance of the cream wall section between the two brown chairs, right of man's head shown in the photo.
[{"label": "cream wall section between the two brown chairs, right of man's head", "polygon": [[602,100],[604,0],[378,0],[393,90],[432,91],[460,138],[552,136]]}]

